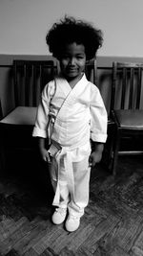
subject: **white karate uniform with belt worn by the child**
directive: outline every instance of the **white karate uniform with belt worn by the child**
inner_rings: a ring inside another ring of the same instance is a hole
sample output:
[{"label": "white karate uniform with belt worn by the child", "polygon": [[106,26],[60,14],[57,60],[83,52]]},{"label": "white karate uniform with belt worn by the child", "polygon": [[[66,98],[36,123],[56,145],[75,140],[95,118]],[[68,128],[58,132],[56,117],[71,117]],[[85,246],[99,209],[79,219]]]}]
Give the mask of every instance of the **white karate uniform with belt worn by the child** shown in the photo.
[{"label": "white karate uniform with belt worn by the child", "polygon": [[98,88],[85,74],[72,88],[63,77],[49,82],[41,97],[33,136],[51,140],[53,205],[83,214],[89,201],[92,141],[107,139],[107,111]]}]

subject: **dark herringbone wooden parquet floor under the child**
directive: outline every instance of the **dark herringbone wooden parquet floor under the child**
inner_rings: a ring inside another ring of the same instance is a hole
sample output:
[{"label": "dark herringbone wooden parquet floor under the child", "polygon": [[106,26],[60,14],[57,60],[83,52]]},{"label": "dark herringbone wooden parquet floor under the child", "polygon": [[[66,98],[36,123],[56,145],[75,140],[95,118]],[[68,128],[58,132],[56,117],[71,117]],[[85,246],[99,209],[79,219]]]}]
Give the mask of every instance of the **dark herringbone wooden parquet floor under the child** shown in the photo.
[{"label": "dark herringbone wooden parquet floor under the child", "polygon": [[92,170],[90,203],[73,233],[51,223],[46,167],[20,161],[1,172],[0,256],[143,255],[141,157],[120,157],[115,178],[101,165]]}]

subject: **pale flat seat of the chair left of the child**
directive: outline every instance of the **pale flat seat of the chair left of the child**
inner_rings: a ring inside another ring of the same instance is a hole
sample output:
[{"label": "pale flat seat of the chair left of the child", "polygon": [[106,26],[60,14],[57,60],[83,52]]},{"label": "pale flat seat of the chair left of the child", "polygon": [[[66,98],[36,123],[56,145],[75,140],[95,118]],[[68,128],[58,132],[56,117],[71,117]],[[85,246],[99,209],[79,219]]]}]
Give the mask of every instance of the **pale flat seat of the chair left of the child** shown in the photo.
[{"label": "pale flat seat of the chair left of the child", "polygon": [[17,106],[7,117],[2,119],[2,124],[34,126],[37,107]]}]

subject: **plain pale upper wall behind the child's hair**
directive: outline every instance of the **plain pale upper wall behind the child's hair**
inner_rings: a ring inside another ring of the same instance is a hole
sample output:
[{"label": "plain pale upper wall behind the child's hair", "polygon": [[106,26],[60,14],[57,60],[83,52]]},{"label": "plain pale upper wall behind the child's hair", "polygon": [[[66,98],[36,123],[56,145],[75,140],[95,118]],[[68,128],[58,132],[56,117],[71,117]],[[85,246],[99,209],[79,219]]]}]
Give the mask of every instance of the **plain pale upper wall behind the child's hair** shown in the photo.
[{"label": "plain pale upper wall behind the child's hair", "polygon": [[99,56],[143,57],[142,0],[0,0],[0,54],[47,55],[45,35],[65,13],[104,33]]}]

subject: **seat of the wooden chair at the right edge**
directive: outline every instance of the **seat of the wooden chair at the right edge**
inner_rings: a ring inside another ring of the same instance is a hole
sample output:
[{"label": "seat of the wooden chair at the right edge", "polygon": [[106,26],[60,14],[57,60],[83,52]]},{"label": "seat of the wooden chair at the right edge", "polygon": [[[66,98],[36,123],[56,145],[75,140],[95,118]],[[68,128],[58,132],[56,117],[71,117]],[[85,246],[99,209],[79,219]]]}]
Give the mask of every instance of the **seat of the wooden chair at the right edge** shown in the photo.
[{"label": "seat of the wooden chair at the right edge", "polygon": [[143,109],[113,110],[121,128],[143,128]]}]

